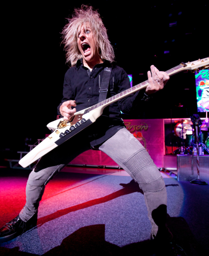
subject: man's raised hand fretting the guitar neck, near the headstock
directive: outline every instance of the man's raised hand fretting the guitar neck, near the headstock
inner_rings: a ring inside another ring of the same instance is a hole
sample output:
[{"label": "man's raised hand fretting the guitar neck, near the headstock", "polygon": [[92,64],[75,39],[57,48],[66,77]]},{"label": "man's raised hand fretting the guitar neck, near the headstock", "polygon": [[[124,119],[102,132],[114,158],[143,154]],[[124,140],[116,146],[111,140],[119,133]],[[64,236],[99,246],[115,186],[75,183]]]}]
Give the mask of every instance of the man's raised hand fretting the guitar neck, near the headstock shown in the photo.
[{"label": "man's raised hand fretting the guitar neck, near the headstock", "polygon": [[169,80],[169,75],[163,71],[159,71],[154,65],[150,67],[151,72],[148,71],[149,85],[146,88],[146,94],[152,94],[156,91],[162,90]]}]

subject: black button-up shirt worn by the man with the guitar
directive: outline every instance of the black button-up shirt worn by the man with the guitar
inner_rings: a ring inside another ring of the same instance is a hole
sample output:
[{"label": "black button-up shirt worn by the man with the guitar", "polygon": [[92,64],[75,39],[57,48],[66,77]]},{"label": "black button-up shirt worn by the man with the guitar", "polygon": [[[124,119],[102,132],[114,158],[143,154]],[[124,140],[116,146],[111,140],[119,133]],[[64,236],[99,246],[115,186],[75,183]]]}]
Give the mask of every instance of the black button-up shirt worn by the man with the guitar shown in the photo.
[{"label": "black button-up shirt worn by the man with the guitar", "polygon": [[[63,99],[57,108],[58,112],[61,104],[67,100],[78,102],[77,111],[97,104],[105,67],[112,67],[107,98],[130,88],[129,78],[123,68],[104,61],[101,64],[96,64],[90,72],[88,68],[83,66],[82,59],[79,59],[76,66],[69,68],[65,74]],[[102,116],[86,128],[91,146],[103,143],[123,128],[124,123],[120,111],[130,113],[134,107],[140,104],[142,96],[141,92],[136,92],[107,106]]]}]

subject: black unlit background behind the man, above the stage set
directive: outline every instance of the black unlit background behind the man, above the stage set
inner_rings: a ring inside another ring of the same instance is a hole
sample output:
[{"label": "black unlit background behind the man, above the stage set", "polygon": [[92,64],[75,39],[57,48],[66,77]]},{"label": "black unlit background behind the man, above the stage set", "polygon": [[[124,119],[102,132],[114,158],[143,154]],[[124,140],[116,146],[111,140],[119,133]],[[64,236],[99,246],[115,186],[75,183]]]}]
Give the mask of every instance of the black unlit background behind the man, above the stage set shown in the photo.
[{"label": "black unlit background behind the man, above the stage set", "polygon": [[[68,66],[61,31],[74,7],[98,9],[118,66],[133,75],[133,85],[147,80],[154,64],[168,70],[180,62],[208,57],[208,5],[198,1],[56,1],[7,4],[2,8],[2,143],[22,150],[50,133],[46,125],[56,119]],[[177,21],[176,26],[169,23]],[[170,51],[164,54],[164,51]],[[143,74],[143,75],[139,75]],[[185,90],[189,89],[189,90]],[[183,107],[177,107],[181,103]],[[190,72],[171,77],[150,104],[124,118],[185,118],[197,113],[195,78]],[[200,114],[201,117],[205,113]]]}]

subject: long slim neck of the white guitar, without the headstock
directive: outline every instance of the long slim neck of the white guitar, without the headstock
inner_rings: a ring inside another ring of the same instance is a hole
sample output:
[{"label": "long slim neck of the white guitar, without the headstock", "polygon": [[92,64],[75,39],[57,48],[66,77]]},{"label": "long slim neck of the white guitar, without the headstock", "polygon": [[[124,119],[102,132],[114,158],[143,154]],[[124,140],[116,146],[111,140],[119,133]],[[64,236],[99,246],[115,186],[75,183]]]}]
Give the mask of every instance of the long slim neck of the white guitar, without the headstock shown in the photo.
[{"label": "long slim neck of the white guitar, without the headstock", "polygon": [[[185,66],[187,66],[187,65],[185,65],[184,63],[179,64],[178,66],[167,70],[166,73],[169,76],[174,75],[176,73],[179,73],[179,72],[185,70]],[[135,93],[137,91],[140,91],[140,90],[146,88],[148,86],[148,84],[149,84],[149,81],[146,80],[143,83],[137,84],[137,85],[125,90],[125,91],[122,91],[122,92],[120,92],[120,93],[118,93],[118,94],[116,94],[116,95],[114,95],[114,96],[112,96],[112,97],[110,97],[106,100],[103,100],[103,101],[97,103],[96,105],[94,105],[90,108],[86,108],[84,114],[86,114],[86,113],[88,113],[88,112],[90,112],[90,111],[92,111],[96,108],[100,108],[100,107],[105,108],[106,106],[108,106],[108,105],[110,105],[110,104],[112,104],[112,103],[114,103],[114,102],[116,102],[120,99],[123,99],[123,98],[125,98],[126,96],[128,96],[132,93]]]}]

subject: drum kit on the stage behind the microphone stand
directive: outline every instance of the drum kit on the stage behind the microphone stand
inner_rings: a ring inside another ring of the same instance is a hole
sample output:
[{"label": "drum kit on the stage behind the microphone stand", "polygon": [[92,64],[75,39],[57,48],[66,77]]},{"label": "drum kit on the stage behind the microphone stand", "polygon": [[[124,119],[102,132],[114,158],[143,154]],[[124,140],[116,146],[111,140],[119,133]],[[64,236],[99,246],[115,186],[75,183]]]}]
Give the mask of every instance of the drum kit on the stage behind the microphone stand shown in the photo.
[{"label": "drum kit on the stage behind the microphone stand", "polygon": [[[199,119],[199,123],[196,125],[191,119],[175,120],[175,123],[174,133],[176,137],[179,137],[179,147],[173,152],[174,154],[197,155],[198,148],[199,155],[209,155],[209,122],[207,117],[203,122]],[[198,139],[198,147],[196,146],[196,138]]]}]

